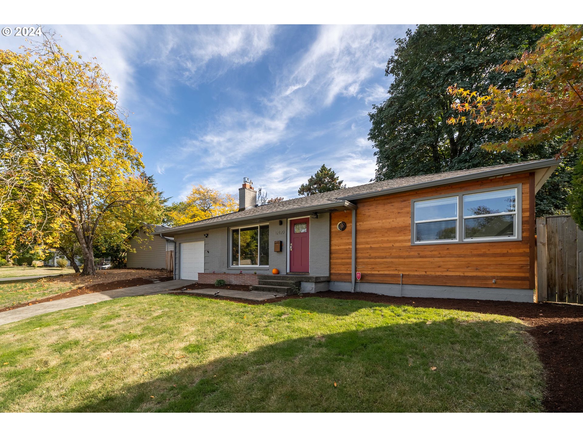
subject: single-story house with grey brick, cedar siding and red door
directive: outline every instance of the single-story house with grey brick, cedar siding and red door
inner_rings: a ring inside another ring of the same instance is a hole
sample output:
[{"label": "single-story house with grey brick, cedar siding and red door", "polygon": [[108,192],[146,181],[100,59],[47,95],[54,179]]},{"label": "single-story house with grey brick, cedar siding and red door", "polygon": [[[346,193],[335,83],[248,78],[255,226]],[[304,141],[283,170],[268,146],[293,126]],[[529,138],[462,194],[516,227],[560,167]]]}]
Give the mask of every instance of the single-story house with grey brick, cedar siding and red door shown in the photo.
[{"label": "single-story house with grey brick, cedar siding and red door", "polygon": [[245,178],[238,212],[154,233],[174,238],[177,279],[532,302],[535,193],[558,164],[396,178],[262,206]]}]

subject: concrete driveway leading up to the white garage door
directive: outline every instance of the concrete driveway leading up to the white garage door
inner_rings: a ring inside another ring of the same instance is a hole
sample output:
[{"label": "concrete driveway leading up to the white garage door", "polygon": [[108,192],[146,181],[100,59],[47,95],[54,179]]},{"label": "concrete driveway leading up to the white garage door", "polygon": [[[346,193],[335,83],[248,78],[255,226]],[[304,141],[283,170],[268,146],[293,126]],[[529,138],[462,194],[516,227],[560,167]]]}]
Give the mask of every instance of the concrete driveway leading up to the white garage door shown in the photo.
[{"label": "concrete driveway leading up to the white garage door", "polygon": [[195,281],[187,279],[176,279],[173,281],[146,284],[145,286],[118,288],[117,290],[82,294],[80,296],[69,297],[66,299],[58,299],[57,301],[43,302],[42,304],[33,304],[30,306],[24,306],[23,308],[10,309],[10,311],[0,312],[0,325],[17,322],[17,320],[27,319],[29,317],[45,314],[47,312],[109,301],[118,297],[164,294],[178,287],[189,286],[194,282]]}]

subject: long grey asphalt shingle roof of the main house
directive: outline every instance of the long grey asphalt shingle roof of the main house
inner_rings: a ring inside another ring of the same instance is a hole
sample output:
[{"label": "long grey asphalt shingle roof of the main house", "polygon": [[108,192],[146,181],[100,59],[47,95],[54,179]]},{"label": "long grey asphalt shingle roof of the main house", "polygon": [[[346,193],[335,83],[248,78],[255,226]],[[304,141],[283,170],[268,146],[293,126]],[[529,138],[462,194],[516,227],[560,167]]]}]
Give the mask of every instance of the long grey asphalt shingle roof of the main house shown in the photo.
[{"label": "long grey asphalt shingle roof of the main house", "polygon": [[[266,205],[257,206],[251,209],[245,209],[243,211],[238,211],[229,214],[223,214],[222,216],[211,217],[207,218],[206,220],[196,221],[194,223],[183,224],[174,228],[170,228],[171,231],[180,231],[189,228],[198,228],[203,227],[205,225],[212,225],[216,223],[220,223],[221,221],[234,221],[234,220],[247,220],[253,218],[254,216],[264,215],[269,213],[283,213],[288,210],[293,209],[301,209],[301,208],[309,208],[309,207],[322,207],[324,205],[328,205],[330,203],[340,202],[344,198],[350,198],[351,196],[359,196],[359,195],[370,195],[370,193],[380,192],[387,189],[394,189],[394,188],[401,188],[401,187],[408,187],[411,186],[410,189],[415,189],[415,185],[424,184],[424,183],[431,183],[442,181],[444,179],[455,178],[460,176],[472,175],[475,173],[480,173],[484,171],[492,171],[492,170],[503,170],[508,169],[512,170],[514,167],[519,167],[516,170],[520,171],[520,167],[524,166],[524,164],[529,163],[538,163],[548,160],[540,160],[540,161],[526,161],[517,164],[502,164],[502,165],[493,165],[491,167],[480,167],[480,168],[472,168],[469,170],[456,170],[456,171],[448,171],[443,173],[434,173],[434,174],[426,174],[420,176],[411,176],[411,177],[404,177],[404,178],[395,178],[395,179],[388,179],[387,181],[381,182],[371,182],[370,184],[364,185],[357,185],[351,186],[350,188],[342,188],[335,191],[329,191],[326,193],[317,193],[312,194],[311,196],[304,196],[301,198],[289,199],[289,200],[282,200],[281,202],[276,203],[268,203]],[[444,181],[447,183],[447,181]],[[166,228],[168,230],[168,228]],[[156,230],[157,231],[157,230]]]}]

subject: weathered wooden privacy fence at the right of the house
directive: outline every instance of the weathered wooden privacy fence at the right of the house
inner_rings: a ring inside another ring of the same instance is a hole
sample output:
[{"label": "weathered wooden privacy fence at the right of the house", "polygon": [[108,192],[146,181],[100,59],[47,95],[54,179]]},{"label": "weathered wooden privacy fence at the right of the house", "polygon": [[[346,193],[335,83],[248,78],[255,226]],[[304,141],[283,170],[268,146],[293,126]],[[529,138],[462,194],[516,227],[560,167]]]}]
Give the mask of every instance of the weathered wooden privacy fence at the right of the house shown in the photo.
[{"label": "weathered wooden privacy fence at the right of the house", "polygon": [[583,231],[571,216],[536,219],[538,302],[583,304]]}]

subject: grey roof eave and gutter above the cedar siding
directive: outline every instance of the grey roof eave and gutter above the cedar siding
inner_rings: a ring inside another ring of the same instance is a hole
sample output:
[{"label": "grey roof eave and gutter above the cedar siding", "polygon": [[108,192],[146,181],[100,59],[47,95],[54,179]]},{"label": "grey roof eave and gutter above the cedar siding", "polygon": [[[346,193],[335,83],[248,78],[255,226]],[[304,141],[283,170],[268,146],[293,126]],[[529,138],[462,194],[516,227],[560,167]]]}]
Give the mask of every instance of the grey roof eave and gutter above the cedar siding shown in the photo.
[{"label": "grey roof eave and gutter above the cedar siding", "polygon": [[354,194],[352,196],[343,196],[339,199],[342,200],[357,200],[357,199],[368,199],[374,198],[377,196],[384,196],[387,194],[398,193],[403,191],[412,191],[416,189],[422,188],[430,188],[432,186],[440,186],[440,185],[449,185],[455,184],[457,182],[465,182],[465,181],[474,181],[476,179],[484,179],[484,178],[491,178],[496,176],[503,176],[508,174],[516,174],[516,173],[523,173],[526,171],[534,171],[534,170],[541,170],[547,169],[544,172],[541,172],[537,181],[535,181],[535,192],[539,191],[540,187],[545,183],[546,179],[549,178],[550,175],[553,174],[557,165],[561,163],[560,158],[557,160],[555,158],[550,158],[547,160],[536,161],[534,163],[525,163],[525,164],[517,164],[512,167],[505,167],[505,168],[495,168],[493,170],[486,170],[480,171],[477,173],[466,174],[466,175],[459,175],[450,178],[444,179],[437,179],[436,181],[429,181],[429,182],[419,182],[418,184],[410,184],[410,185],[403,185],[403,186],[395,186],[393,188],[387,188],[378,191],[371,191],[367,193],[360,193]]}]

